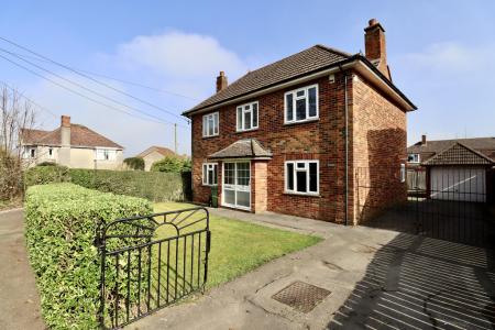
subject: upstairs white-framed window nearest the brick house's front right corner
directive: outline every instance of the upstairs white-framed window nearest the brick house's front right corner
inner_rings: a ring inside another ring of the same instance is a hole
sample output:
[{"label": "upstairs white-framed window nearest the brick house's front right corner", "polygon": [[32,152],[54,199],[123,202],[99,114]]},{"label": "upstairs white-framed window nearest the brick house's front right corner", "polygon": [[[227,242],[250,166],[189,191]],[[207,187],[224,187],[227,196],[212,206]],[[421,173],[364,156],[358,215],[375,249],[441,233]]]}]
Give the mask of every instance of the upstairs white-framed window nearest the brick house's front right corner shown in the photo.
[{"label": "upstairs white-framed window nearest the brick house's front right corner", "polygon": [[318,119],[318,85],[311,85],[284,95],[284,122],[295,123]]}]

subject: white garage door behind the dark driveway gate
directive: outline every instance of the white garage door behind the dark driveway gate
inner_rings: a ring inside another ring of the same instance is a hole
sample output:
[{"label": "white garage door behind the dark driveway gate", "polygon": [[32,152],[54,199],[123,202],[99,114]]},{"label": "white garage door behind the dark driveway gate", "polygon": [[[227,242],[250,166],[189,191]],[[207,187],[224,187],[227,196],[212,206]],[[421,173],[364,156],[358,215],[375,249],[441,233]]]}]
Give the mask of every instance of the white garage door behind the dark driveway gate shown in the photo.
[{"label": "white garage door behind the dark driveway gate", "polygon": [[480,167],[431,167],[431,198],[484,202],[485,174],[485,169]]}]

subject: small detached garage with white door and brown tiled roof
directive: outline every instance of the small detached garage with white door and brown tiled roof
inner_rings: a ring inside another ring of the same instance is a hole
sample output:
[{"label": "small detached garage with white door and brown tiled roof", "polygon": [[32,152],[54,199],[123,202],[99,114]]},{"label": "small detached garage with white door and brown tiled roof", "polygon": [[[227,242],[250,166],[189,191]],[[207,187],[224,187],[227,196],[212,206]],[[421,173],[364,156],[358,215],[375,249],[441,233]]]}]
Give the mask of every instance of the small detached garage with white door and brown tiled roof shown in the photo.
[{"label": "small detached garage with white door and brown tiled roof", "polygon": [[422,165],[431,199],[486,202],[486,176],[494,164],[485,155],[455,143]]}]

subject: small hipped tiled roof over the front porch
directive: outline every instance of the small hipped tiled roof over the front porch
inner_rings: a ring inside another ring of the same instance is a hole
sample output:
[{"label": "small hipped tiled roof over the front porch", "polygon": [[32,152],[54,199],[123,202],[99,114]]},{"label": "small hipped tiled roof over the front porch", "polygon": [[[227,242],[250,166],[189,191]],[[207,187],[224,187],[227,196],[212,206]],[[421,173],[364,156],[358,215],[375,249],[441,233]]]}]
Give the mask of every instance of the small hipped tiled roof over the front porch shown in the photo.
[{"label": "small hipped tiled roof over the front porch", "polygon": [[272,152],[256,139],[244,139],[235,141],[226,148],[208,156],[210,160],[221,158],[266,158],[272,157]]}]

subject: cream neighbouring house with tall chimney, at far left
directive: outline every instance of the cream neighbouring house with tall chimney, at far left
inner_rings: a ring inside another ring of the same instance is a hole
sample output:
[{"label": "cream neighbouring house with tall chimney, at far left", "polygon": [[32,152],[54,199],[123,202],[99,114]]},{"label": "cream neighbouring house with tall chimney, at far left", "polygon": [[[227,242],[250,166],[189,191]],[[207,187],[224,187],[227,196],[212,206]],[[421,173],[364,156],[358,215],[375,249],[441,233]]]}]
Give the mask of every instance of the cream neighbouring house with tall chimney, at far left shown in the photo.
[{"label": "cream neighbouring house with tall chimney, at far left", "polygon": [[21,144],[30,166],[51,162],[74,168],[121,169],[123,147],[62,116],[53,131],[22,130]]}]

